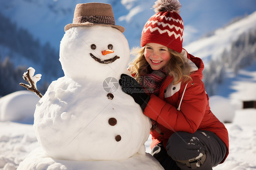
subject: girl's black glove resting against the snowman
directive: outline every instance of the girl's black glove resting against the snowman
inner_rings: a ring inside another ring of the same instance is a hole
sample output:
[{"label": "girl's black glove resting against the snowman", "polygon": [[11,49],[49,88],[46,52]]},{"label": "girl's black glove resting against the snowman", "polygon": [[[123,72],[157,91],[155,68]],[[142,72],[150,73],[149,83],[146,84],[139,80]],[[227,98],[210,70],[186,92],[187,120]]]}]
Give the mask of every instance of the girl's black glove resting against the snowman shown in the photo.
[{"label": "girl's black glove resting against the snowman", "polygon": [[148,104],[150,95],[145,93],[145,89],[140,85],[133,77],[129,75],[122,74],[119,84],[122,86],[124,93],[133,97],[134,101],[140,105],[142,110]]}]

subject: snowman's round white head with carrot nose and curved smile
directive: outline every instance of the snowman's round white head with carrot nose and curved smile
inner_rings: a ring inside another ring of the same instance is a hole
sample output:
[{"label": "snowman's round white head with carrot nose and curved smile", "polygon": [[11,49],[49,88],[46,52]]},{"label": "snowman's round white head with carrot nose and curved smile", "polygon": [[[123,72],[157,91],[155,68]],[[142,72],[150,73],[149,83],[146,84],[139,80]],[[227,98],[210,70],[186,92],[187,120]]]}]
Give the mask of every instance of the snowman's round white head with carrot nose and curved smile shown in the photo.
[{"label": "snowman's round white head with carrot nose and curved smile", "polygon": [[125,36],[110,26],[79,26],[67,30],[60,45],[60,62],[72,79],[104,80],[126,70],[129,46]]}]

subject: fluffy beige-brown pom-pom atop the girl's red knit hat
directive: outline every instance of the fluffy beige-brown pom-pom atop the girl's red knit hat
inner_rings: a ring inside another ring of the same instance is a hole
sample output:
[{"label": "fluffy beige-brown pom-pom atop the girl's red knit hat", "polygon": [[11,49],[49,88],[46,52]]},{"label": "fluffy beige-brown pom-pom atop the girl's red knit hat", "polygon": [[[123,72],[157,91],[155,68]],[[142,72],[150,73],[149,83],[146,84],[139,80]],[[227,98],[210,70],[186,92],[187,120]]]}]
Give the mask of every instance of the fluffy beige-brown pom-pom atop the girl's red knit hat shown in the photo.
[{"label": "fluffy beige-brown pom-pom atop the girl's red knit hat", "polygon": [[179,3],[179,0],[157,0],[155,4],[153,5],[154,12],[177,12],[179,14],[181,4]]}]

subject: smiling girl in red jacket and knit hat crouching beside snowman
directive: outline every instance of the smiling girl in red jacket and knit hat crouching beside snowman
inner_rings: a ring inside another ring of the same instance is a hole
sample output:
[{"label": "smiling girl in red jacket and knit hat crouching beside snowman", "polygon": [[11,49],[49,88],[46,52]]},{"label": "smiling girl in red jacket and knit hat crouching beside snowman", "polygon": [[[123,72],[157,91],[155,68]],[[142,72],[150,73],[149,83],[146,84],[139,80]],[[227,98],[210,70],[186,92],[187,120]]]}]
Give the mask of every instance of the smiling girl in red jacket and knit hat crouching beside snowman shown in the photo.
[{"label": "smiling girl in red jacket and knit hat crouching beside snowman", "polygon": [[209,107],[204,64],[182,48],[179,1],[158,0],[153,7],[156,14],[143,28],[142,49],[129,65],[138,82],[121,75],[119,84],[151,118],[151,154],[165,170],[212,170],[227,157],[229,140]]}]

